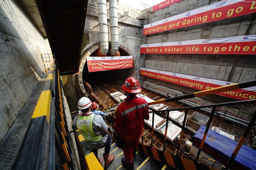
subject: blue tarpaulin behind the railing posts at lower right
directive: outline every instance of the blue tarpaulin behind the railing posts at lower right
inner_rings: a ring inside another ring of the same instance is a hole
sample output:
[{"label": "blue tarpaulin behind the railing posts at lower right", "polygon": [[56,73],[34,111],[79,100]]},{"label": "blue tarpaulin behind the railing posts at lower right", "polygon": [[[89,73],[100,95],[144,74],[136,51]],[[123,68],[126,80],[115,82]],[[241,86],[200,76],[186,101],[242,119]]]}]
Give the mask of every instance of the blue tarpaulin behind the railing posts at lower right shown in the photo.
[{"label": "blue tarpaulin behind the railing posts at lower right", "polygon": [[[202,141],[205,128],[205,126],[201,126],[192,137],[193,145],[197,148],[200,145],[199,142]],[[236,141],[209,129],[202,151],[225,165],[237,144]],[[256,169],[256,150],[243,145],[233,164],[236,164],[236,167],[245,169]]]}]

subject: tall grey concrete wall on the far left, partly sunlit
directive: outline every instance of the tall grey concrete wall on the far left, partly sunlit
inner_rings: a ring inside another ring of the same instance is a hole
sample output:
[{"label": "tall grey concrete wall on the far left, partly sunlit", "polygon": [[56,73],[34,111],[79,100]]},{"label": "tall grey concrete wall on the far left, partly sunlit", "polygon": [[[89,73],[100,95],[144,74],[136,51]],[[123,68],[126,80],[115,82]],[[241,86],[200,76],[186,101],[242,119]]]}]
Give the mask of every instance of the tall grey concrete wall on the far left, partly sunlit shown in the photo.
[{"label": "tall grey concrete wall on the far left, partly sunlit", "polygon": [[1,142],[43,76],[41,54],[51,51],[20,4],[11,0],[0,1],[0,48]]}]

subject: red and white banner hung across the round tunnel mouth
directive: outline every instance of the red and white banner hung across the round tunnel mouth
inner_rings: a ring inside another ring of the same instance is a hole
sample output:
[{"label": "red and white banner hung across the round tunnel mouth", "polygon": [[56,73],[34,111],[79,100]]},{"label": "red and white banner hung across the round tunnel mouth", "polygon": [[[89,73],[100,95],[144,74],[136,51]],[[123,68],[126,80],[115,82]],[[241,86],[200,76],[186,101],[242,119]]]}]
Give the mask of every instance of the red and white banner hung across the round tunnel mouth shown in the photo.
[{"label": "red and white banner hung across the round tunnel mouth", "polygon": [[133,56],[86,57],[86,59],[89,72],[133,67]]}]

